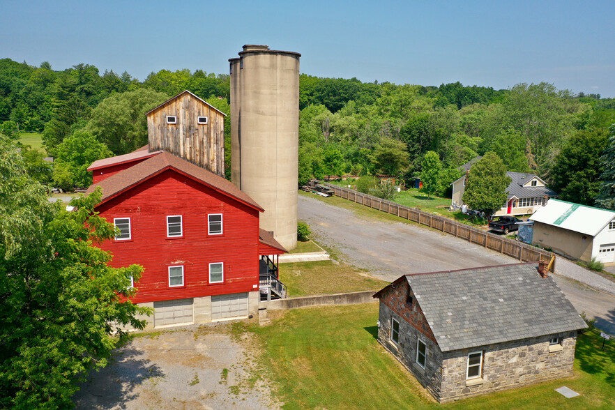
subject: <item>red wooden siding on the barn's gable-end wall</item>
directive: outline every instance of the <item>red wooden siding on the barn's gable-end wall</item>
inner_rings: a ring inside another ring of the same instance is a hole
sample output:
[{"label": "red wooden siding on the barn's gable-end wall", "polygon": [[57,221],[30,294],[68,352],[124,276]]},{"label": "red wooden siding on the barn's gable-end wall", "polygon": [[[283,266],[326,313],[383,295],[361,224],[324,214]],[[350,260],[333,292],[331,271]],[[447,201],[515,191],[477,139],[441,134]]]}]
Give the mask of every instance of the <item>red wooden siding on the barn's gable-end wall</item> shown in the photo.
[{"label": "red wooden siding on the barn's gable-end wall", "polygon": [[[234,294],[258,287],[259,211],[172,169],[96,208],[130,218],[130,241],[106,241],[112,266],[140,264],[135,303]],[[208,213],[222,213],[223,234],[208,236]],[[167,215],[182,215],[183,236],[167,238]],[[208,265],[224,263],[224,282],[209,284]],[[184,286],[169,287],[168,267],[184,266]],[[256,287],[255,287],[256,285]]]}]

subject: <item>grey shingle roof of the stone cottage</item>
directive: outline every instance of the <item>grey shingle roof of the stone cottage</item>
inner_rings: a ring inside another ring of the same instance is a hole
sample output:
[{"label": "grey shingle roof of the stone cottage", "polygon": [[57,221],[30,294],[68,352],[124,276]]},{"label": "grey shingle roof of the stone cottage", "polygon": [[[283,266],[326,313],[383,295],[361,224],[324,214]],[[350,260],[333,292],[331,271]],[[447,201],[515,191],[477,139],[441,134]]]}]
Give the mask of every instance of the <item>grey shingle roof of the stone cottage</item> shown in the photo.
[{"label": "grey shingle roof of the stone cottage", "polygon": [[442,351],[586,328],[537,264],[407,275]]}]

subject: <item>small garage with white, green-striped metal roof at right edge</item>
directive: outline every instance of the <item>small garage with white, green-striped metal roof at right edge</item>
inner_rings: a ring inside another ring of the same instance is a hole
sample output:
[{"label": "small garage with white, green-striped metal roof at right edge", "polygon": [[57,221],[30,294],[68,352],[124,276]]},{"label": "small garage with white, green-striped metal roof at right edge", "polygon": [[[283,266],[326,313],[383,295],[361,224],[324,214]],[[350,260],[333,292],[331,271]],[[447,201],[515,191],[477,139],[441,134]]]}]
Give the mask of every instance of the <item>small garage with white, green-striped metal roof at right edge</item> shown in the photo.
[{"label": "small garage with white, green-striped metal roof at right edge", "polygon": [[530,220],[534,245],[574,259],[615,264],[615,211],[552,199]]}]

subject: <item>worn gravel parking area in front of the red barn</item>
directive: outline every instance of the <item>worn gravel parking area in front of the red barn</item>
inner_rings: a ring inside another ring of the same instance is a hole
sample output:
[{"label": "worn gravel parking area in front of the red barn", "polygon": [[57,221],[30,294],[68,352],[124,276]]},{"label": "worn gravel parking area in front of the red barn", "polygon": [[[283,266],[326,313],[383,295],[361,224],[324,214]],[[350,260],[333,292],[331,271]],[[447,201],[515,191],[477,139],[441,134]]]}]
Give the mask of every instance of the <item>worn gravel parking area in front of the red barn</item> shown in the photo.
[{"label": "worn gravel parking area in front of the red barn", "polygon": [[77,409],[277,409],[251,353],[229,324],[139,335],[91,372]]}]

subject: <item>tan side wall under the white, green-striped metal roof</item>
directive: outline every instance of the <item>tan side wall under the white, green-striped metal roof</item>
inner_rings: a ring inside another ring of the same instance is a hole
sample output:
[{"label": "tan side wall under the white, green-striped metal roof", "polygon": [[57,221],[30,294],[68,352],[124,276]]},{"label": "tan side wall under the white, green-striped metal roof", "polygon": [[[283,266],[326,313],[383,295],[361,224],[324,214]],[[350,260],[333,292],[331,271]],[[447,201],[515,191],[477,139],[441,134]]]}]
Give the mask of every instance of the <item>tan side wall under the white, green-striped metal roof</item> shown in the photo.
[{"label": "tan side wall under the white, green-striped metal roof", "polygon": [[559,252],[560,254],[575,259],[591,261],[593,236],[554,227],[538,221],[534,222],[533,230],[533,245],[540,245],[542,248],[551,248],[554,252]]}]

